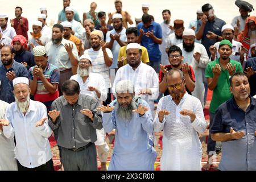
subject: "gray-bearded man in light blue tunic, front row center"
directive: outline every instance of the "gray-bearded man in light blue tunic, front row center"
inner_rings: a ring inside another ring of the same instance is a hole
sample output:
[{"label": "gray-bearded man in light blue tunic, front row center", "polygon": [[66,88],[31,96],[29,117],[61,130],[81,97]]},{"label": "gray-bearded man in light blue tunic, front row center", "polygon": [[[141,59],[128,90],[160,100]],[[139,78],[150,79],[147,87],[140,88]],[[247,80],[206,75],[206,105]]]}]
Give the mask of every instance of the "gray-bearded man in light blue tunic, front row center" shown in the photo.
[{"label": "gray-bearded man in light blue tunic, front row center", "polygon": [[154,171],[156,151],[149,135],[154,132],[151,111],[146,101],[135,97],[128,80],[115,84],[117,100],[100,106],[106,132],[115,129],[115,146],[109,171]]}]

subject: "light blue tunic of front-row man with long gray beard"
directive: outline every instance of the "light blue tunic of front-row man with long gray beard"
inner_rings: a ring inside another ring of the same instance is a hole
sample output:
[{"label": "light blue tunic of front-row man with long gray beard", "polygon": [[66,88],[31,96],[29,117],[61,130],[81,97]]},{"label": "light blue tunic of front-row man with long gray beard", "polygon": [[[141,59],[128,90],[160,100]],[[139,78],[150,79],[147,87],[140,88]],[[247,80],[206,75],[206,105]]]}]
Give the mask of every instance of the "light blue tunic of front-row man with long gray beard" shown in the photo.
[{"label": "light blue tunic of front-row man with long gray beard", "polygon": [[[115,106],[116,100],[110,106]],[[143,106],[149,107],[141,100]],[[118,117],[117,109],[103,113],[103,126],[106,132],[115,129],[115,146],[109,164],[109,171],[154,171],[156,151],[149,135],[154,132],[151,111],[140,117],[133,113],[131,119]]]}]

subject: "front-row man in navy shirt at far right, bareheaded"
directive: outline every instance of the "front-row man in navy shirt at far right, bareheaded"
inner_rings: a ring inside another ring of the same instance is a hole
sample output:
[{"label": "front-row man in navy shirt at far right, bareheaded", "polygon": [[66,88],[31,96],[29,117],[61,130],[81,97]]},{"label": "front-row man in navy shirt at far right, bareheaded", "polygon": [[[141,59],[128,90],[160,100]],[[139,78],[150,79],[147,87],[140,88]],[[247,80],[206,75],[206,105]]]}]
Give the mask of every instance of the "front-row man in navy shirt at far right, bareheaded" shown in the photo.
[{"label": "front-row man in navy shirt at far right, bareheaded", "polygon": [[210,136],[222,142],[221,171],[256,170],[256,99],[250,96],[250,85],[244,73],[230,78],[233,97],[216,110]]}]

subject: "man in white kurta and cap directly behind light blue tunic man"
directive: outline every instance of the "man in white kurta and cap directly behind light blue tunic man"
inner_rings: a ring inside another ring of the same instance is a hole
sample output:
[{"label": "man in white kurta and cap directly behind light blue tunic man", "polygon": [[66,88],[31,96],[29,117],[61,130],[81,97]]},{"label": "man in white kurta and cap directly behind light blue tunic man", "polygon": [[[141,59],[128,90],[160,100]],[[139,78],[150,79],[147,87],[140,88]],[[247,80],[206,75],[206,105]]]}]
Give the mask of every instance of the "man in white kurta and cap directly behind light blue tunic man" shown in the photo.
[{"label": "man in white kurta and cap directly behind light blue tunic man", "polygon": [[115,85],[121,80],[130,80],[135,89],[135,96],[141,97],[150,105],[151,113],[154,113],[154,100],[158,98],[158,75],[155,70],[141,61],[141,46],[137,43],[130,43],[126,47],[127,63],[121,67],[115,75],[113,84],[113,94]]}]

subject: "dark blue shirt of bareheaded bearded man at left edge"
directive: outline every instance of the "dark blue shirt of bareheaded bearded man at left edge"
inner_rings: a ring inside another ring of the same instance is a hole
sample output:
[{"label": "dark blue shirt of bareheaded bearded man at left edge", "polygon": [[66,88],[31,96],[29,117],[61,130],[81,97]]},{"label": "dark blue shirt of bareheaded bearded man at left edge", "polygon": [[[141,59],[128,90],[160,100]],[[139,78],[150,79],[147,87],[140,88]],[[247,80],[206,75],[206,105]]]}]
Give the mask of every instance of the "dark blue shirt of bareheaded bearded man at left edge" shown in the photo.
[{"label": "dark blue shirt of bareheaded bearded man at left edge", "polygon": [[9,71],[14,71],[16,77],[28,77],[27,68],[25,68],[22,64],[17,63],[14,60],[13,65],[10,69],[6,69],[5,66],[0,63],[0,100],[8,102],[15,102],[14,94],[13,94],[13,81],[9,81],[6,77],[6,73]]}]

